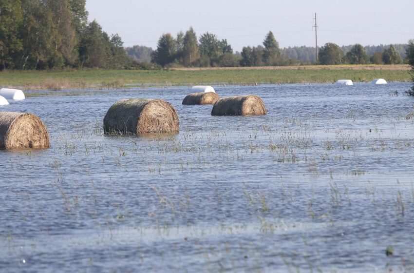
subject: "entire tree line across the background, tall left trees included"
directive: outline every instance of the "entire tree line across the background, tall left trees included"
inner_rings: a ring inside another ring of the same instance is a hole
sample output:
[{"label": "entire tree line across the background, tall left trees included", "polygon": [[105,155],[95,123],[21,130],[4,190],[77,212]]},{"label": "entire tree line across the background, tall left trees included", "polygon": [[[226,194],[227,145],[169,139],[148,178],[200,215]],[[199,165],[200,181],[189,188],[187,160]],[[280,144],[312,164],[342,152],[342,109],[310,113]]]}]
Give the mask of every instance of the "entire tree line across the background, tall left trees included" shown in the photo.
[{"label": "entire tree line across the background, tall left trees included", "polygon": [[160,67],[235,67],[297,64],[393,64],[404,59],[408,45],[281,49],[271,31],[258,46],[234,52],[226,39],[193,28],[175,37],[163,34],[157,48],[124,48],[96,21],[88,22],[86,0],[0,0],[0,70],[6,69],[154,69]]}]

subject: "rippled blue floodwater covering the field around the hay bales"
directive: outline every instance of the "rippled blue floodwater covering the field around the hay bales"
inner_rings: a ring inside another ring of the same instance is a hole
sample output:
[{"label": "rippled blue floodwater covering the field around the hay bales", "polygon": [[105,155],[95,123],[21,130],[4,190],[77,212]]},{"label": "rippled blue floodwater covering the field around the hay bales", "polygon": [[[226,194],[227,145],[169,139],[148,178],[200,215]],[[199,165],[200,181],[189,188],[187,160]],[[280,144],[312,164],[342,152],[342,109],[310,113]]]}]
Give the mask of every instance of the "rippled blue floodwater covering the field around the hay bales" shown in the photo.
[{"label": "rippled blue floodwater covering the field around the hay bales", "polygon": [[[262,117],[181,105],[188,87],[12,102],[52,146],[0,151],[0,271],[414,271],[409,88],[216,87],[260,96]],[[169,101],[180,133],[105,136],[122,98]]]}]

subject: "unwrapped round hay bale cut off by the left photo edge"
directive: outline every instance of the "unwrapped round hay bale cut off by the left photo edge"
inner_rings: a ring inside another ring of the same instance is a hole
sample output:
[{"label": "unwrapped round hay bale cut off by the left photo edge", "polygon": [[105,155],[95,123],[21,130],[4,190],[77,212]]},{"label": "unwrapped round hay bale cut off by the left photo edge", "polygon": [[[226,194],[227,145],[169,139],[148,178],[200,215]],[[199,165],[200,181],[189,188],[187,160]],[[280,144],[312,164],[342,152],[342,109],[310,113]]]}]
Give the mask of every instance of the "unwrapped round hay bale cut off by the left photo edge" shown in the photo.
[{"label": "unwrapped round hay bale cut off by the left photo edge", "polygon": [[0,112],[0,149],[49,147],[49,135],[38,116]]}]

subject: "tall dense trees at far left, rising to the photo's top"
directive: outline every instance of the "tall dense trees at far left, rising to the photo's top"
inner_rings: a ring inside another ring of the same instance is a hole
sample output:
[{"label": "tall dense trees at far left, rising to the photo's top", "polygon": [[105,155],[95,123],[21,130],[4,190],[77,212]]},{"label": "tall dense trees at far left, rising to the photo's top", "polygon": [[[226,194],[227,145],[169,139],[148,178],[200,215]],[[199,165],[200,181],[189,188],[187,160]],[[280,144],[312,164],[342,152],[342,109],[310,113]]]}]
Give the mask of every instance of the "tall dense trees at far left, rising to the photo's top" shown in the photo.
[{"label": "tall dense trees at far left, rising to the photo's top", "polygon": [[0,70],[123,68],[122,39],[88,23],[86,0],[0,0]]}]

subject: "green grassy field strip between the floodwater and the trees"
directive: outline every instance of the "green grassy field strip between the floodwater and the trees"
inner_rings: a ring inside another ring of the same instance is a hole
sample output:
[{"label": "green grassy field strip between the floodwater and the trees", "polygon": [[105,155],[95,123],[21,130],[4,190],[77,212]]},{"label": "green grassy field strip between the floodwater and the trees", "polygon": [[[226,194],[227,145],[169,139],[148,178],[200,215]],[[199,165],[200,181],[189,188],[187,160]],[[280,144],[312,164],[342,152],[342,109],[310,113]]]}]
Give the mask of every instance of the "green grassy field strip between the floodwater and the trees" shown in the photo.
[{"label": "green grassy field strip between the floodwater and the trees", "polygon": [[6,71],[0,73],[0,86],[23,89],[125,88],[137,85],[192,84],[282,84],[329,83],[338,79],[356,82],[385,78],[410,81],[406,65],[279,66],[238,68],[180,68],[160,71]]}]

